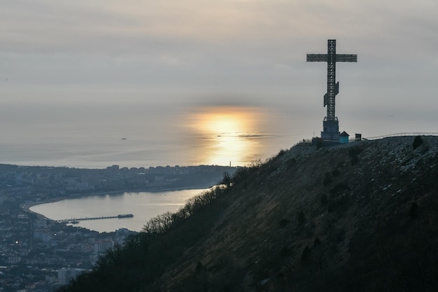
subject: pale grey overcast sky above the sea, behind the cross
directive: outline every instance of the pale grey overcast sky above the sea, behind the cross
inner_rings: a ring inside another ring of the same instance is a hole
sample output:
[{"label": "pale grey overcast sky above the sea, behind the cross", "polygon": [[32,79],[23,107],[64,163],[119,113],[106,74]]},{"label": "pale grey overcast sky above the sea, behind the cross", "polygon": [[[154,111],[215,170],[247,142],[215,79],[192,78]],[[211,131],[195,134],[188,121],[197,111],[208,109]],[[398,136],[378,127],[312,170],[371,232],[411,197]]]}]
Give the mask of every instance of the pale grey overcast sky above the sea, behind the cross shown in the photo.
[{"label": "pale grey overcast sky above the sea, behind the cross", "polygon": [[300,124],[311,136],[326,113],[327,65],[306,54],[337,39],[337,53],[358,55],[337,64],[341,127],[438,132],[437,12],[432,0],[1,1],[1,107],[29,106],[2,114],[262,106],[290,123],[313,117]]}]

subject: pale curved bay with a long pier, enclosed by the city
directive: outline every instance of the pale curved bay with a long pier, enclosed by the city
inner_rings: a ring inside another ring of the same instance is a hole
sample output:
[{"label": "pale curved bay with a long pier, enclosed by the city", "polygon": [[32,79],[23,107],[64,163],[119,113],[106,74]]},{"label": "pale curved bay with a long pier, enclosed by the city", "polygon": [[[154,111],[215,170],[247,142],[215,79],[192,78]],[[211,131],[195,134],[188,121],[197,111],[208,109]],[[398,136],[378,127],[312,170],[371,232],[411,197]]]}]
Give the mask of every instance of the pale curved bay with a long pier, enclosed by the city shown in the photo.
[{"label": "pale curved bay with a long pier, enclosed by the city", "polygon": [[98,232],[113,232],[120,228],[140,231],[150,218],[167,211],[178,211],[190,197],[202,193],[205,190],[206,189],[190,189],[90,195],[87,197],[37,204],[29,209],[52,220],[133,214],[134,217],[132,218],[79,221],[75,226],[96,230]]}]

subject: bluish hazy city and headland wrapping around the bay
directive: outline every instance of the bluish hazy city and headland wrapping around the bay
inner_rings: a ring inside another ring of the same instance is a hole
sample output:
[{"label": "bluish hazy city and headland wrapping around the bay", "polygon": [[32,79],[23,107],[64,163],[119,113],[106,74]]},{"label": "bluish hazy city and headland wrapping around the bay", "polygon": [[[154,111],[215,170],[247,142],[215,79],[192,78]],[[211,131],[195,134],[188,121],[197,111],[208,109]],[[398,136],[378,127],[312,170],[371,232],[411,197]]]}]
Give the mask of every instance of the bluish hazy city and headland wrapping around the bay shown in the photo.
[{"label": "bluish hazy city and headland wrapping around the bay", "polygon": [[[106,169],[0,165],[0,291],[53,291],[135,232],[97,232],[28,211],[32,204],[78,196],[212,186],[236,167]],[[146,222],[145,222],[146,223]]]}]

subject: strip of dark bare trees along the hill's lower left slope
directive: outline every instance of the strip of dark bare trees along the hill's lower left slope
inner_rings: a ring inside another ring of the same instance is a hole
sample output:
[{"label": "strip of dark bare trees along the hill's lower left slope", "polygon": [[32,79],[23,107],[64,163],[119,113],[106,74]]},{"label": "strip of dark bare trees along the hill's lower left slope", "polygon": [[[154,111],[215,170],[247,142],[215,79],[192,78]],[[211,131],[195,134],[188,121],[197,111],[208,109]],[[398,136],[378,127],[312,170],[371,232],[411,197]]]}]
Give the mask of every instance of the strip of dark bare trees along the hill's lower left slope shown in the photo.
[{"label": "strip of dark bare trees along the hill's lower left slope", "polygon": [[[129,237],[123,246],[115,246],[99,258],[92,272],[81,274],[59,291],[75,291],[79,287],[80,291],[138,291],[139,284],[153,283],[164,267],[211,228],[224,207],[213,201],[225,190],[218,186],[190,198],[176,213],[151,218],[143,232]],[[98,284],[100,281],[108,284]]]}]

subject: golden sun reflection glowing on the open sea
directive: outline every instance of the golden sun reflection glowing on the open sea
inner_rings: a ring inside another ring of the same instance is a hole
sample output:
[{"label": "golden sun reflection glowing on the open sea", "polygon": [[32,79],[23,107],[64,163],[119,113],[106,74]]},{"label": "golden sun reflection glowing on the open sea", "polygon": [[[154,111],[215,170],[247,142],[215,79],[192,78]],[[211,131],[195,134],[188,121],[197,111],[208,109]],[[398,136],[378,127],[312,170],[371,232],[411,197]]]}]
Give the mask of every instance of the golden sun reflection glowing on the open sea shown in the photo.
[{"label": "golden sun reflection glowing on the open sea", "polygon": [[260,158],[267,113],[255,107],[208,106],[188,115],[192,155],[208,165],[247,165]]}]

